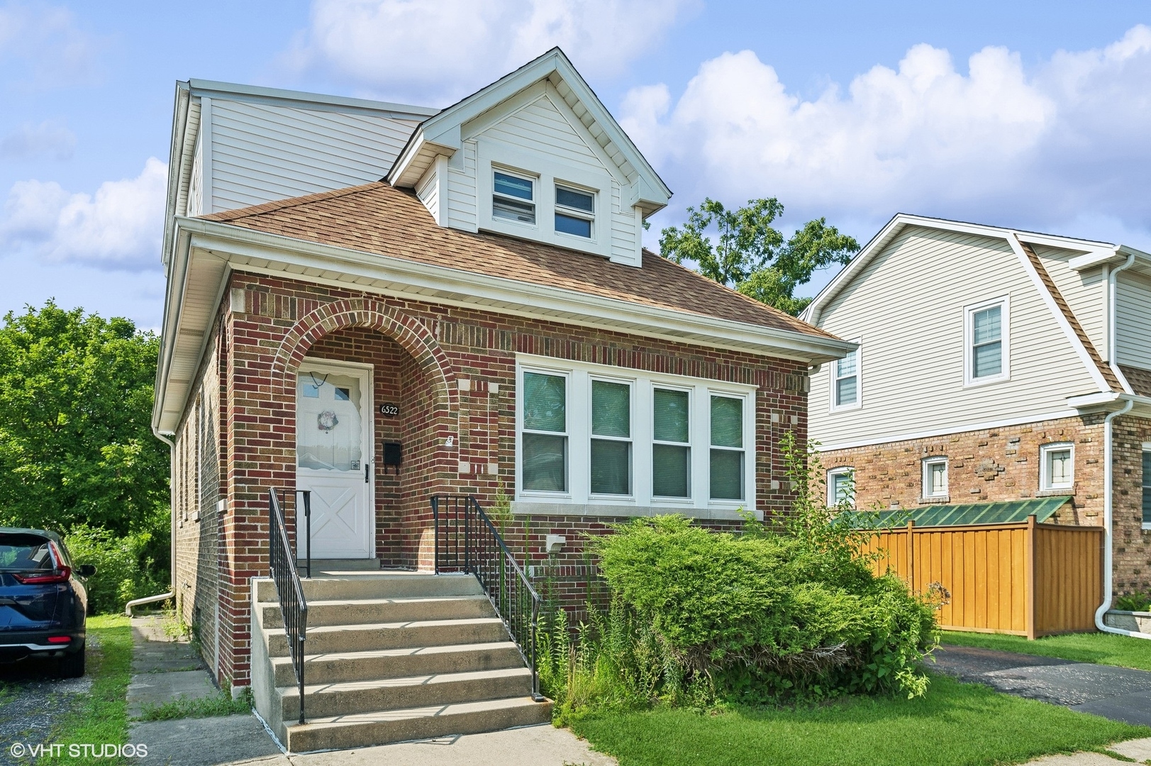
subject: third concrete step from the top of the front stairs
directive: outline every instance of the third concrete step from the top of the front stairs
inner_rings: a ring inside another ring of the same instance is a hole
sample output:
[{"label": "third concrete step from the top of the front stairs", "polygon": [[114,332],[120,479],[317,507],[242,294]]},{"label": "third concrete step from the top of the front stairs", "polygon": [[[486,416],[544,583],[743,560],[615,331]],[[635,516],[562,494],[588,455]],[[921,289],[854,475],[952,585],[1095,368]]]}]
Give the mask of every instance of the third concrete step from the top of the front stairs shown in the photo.
[{"label": "third concrete step from the top of the front stairs", "polygon": [[[288,636],[282,628],[266,630],[265,635],[268,657],[288,657]],[[504,640],[508,640],[508,629],[498,617],[421,620],[308,628],[304,651],[307,654],[369,652],[405,646],[489,644]]]}]

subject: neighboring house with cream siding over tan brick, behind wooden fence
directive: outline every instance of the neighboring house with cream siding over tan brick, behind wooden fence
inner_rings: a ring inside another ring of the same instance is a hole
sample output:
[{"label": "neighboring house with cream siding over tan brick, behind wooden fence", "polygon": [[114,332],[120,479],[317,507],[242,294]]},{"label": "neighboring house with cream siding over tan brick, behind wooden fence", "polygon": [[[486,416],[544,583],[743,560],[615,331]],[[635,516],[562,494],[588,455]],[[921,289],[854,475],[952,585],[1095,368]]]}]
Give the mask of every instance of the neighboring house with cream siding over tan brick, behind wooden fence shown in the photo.
[{"label": "neighboring house with cream siding over tan brick, behind wooden fence", "polygon": [[829,500],[1066,496],[1114,592],[1151,590],[1151,256],[899,214],[802,318],[859,344],[811,376]]}]

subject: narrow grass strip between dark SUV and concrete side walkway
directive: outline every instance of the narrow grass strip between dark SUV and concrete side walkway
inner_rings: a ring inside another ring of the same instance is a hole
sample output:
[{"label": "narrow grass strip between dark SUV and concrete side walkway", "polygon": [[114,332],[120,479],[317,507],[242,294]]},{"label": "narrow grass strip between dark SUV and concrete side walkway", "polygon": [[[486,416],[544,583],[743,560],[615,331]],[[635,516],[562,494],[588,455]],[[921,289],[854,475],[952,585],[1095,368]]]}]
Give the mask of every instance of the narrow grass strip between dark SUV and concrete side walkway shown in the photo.
[{"label": "narrow grass strip between dark SUV and concrete side walkway", "polygon": [[[94,639],[94,640],[93,640]],[[87,668],[92,691],[46,741],[63,743],[125,744],[128,742],[128,681],[132,669],[132,632],[128,617],[101,615],[87,619]],[[83,759],[81,759],[83,761]],[[37,766],[79,763],[68,754],[39,758]],[[100,759],[115,764],[117,759]]]}]

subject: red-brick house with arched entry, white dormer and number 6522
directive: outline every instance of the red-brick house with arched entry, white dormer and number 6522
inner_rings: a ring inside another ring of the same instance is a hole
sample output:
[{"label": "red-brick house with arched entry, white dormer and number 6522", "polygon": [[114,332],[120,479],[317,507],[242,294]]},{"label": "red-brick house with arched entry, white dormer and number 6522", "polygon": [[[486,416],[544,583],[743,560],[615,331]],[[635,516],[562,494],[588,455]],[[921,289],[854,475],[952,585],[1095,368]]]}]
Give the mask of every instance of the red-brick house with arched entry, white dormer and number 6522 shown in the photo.
[{"label": "red-brick house with arched entry, white dormer and number 6522", "polygon": [[433,494],[506,492],[578,602],[585,531],[785,509],[777,441],[854,348],[642,249],[671,192],[558,50],[441,112],[180,83],[170,167],[153,425],[221,683],[269,488],[312,492],[313,556],[424,571]]}]

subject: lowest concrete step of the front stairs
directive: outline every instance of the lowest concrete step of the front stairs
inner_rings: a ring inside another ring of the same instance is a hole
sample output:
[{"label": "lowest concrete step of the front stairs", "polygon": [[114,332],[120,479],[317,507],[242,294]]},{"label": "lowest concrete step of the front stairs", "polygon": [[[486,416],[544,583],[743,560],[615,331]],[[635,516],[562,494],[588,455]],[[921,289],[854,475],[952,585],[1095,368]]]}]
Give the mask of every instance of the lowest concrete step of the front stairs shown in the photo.
[{"label": "lowest concrete step of the front stairs", "polygon": [[308,716],[303,726],[287,727],[284,745],[291,752],[365,748],[449,734],[496,731],[550,720],[550,701],[536,703],[531,697],[488,699],[353,715]]}]

